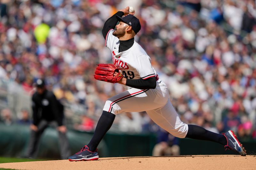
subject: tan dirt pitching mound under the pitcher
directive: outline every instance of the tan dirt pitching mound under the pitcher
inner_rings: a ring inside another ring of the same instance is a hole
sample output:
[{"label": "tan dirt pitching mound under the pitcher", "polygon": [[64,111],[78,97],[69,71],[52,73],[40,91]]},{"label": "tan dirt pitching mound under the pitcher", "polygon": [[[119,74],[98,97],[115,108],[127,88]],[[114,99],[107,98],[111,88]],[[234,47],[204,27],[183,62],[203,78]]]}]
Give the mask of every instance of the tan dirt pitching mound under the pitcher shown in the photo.
[{"label": "tan dirt pitching mound under the pitcher", "polygon": [[100,158],[96,161],[52,160],[0,164],[2,168],[33,170],[70,169],[256,169],[256,156],[187,155],[171,157],[120,157]]}]

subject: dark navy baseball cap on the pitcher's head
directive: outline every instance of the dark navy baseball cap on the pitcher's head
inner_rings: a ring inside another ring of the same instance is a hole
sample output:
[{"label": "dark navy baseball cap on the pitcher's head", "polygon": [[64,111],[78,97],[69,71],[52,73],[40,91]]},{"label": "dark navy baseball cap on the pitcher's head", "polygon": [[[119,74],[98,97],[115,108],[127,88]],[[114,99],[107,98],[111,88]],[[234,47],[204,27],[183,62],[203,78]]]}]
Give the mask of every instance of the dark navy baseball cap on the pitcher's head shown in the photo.
[{"label": "dark navy baseball cap on the pitcher's head", "polygon": [[128,26],[132,26],[132,30],[134,31],[135,34],[137,34],[140,31],[140,21],[135,16],[128,14],[121,18],[116,15],[116,18],[119,22],[122,21],[126,23]]}]

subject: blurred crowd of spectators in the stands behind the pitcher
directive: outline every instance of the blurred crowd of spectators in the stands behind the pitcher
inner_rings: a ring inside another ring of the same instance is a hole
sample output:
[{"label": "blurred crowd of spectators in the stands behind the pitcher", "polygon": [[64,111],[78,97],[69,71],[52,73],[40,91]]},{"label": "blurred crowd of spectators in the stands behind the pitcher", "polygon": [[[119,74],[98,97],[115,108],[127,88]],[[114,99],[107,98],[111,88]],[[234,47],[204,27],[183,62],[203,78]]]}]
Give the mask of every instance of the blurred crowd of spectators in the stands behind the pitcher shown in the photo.
[{"label": "blurred crowd of spectators in the stands behind the pitcher", "polygon": [[[168,85],[181,120],[256,139],[255,0],[2,0],[0,78],[28,93],[45,78],[58,99],[87,107],[75,127],[93,129],[90,116],[124,91],[93,74],[97,63],[111,63],[103,24],[126,6],[140,19],[135,41]],[[124,132],[159,131],[145,112],[114,123]]]}]

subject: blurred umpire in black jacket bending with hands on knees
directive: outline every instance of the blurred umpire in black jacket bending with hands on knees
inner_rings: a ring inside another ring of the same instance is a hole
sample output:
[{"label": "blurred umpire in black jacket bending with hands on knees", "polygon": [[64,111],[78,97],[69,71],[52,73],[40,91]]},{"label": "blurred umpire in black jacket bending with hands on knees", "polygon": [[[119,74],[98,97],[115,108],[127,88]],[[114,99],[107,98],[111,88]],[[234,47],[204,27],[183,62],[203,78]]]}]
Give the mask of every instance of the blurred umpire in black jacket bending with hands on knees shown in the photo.
[{"label": "blurred umpire in black jacket bending with hands on knees", "polygon": [[38,143],[48,125],[57,127],[59,133],[61,158],[67,159],[70,155],[67,128],[63,124],[64,106],[56,99],[53,92],[48,91],[43,79],[37,79],[36,92],[32,96],[33,123],[30,126],[31,137],[27,156],[35,158]]}]

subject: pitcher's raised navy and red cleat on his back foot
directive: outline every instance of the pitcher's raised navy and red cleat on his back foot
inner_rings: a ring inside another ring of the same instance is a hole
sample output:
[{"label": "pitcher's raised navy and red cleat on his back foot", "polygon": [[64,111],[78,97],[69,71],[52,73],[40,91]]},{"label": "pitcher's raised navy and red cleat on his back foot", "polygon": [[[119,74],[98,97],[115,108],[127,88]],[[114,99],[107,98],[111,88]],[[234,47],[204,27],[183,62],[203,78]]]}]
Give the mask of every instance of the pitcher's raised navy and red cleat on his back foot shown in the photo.
[{"label": "pitcher's raised navy and red cleat on his back foot", "polygon": [[227,138],[227,145],[225,145],[225,149],[226,150],[234,150],[237,153],[239,153],[241,156],[246,156],[246,151],[243,147],[242,144],[240,144],[240,142],[238,141],[238,139],[236,138],[236,135],[234,134],[234,132],[232,130],[229,130],[226,133],[223,133],[223,135]]}]

